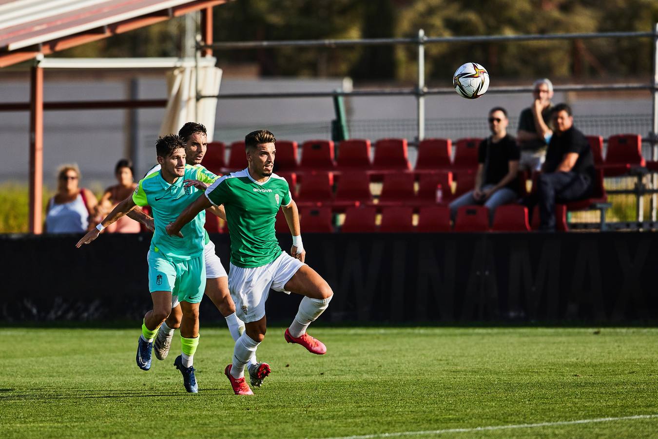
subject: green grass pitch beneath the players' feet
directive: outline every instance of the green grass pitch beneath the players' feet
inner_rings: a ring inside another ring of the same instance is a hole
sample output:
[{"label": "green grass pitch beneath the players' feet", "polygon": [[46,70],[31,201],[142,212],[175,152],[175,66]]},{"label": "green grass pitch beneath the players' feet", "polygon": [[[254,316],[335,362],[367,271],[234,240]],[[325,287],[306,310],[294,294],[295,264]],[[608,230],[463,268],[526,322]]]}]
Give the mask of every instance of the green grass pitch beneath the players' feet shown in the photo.
[{"label": "green grass pitch beneath the players' feet", "polygon": [[193,395],[178,337],[143,372],[135,326],[0,328],[0,437],[658,436],[658,417],[555,424],[658,415],[657,328],[311,328],[323,356],[270,328],[248,397],[222,373],[226,328],[201,329]]}]

